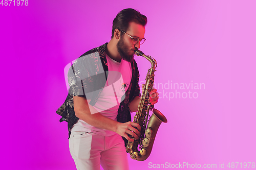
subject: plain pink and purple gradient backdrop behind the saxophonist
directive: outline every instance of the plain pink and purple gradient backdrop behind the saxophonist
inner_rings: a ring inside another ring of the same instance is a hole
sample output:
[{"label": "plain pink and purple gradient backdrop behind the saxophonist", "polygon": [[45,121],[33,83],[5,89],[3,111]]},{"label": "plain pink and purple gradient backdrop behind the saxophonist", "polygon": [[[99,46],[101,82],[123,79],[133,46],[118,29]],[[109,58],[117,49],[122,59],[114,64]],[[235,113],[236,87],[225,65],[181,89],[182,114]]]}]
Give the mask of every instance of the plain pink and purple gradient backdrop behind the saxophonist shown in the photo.
[{"label": "plain pink and purple gradient backdrop behind the saxophonist", "polygon": [[[9,3],[9,2],[8,2]],[[168,119],[148,163],[256,162],[255,1],[29,1],[0,6],[1,169],[75,169],[64,67],[108,42],[124,8],[148,18],[140,50],[157,62],[155,83],[204,83],[197,99],[160,99]],[[143,81],[149,63],[136,57]],[[162,92],[162,88],[158,88]],[[166,92],[173,92],[166,89]],[[180,90],[188,92],[188,90]]]}]

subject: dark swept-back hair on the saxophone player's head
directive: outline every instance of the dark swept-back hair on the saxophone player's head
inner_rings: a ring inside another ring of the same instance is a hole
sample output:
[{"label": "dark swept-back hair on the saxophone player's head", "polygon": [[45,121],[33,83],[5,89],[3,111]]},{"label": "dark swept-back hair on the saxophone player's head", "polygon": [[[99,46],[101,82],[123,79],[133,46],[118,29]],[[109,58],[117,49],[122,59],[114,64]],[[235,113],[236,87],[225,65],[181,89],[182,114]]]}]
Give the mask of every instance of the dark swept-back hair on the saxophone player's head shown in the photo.
[{"label": "dark swept-back hair on the saxophone player's head", "polygon": [[118,29],[119,31],[123,30],[124,32],[126,32],[129,28],[130,22],[135,22],[145,27],[147,23],[147,18],[145,15],[142,15],[139,11],[136,11],[135,9],[123,9],[116,15],[115,19],[113,20],[111,38],[114,37],[114,32],[116,29]]}]

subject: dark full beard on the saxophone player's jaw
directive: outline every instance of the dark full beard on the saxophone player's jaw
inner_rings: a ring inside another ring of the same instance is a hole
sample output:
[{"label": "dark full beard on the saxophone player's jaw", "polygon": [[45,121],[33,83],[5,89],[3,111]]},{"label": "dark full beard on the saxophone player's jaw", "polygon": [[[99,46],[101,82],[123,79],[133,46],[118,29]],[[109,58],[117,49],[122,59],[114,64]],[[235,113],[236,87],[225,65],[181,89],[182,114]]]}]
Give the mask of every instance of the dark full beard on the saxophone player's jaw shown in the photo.
[{"label": "dark full beard on the saxophone player's jaw", "polygon": [[131,50],[129,47],[124,44],[123,38],[121,37],[120,40],[116,44],[117,51],[119,55],[122,57],[123,60],[132,62],[134,58],[134,53],[132,55],[129,55],[131,53]]}]

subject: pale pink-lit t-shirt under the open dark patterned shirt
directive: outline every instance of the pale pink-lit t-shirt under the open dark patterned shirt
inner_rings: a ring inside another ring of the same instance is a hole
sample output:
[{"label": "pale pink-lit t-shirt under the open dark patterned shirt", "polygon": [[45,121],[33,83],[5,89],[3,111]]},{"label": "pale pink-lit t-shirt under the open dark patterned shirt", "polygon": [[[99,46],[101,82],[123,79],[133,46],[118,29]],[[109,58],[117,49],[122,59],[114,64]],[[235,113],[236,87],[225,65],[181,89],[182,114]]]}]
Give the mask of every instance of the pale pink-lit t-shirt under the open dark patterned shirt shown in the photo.
[{"label": "pale pink-lit t-shirt under the open dark patterned shirt", "polygon": [[[105,117],[117,120],[117,111],[120,103],[124,99],[125,91],[128,89],[132,79],[131,63],[124,61],[117,62],[106,55],[109,67],[108,80],[93,106],[100,114]],[[123,98],[122,98],[123,96]],[[93,114],[93,112],[91,112]],[[72,132],[93,132],[102,136],[111,136],[115,132],[99,129],[91,126],[79,119],[71,129]]]}]

